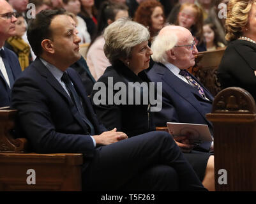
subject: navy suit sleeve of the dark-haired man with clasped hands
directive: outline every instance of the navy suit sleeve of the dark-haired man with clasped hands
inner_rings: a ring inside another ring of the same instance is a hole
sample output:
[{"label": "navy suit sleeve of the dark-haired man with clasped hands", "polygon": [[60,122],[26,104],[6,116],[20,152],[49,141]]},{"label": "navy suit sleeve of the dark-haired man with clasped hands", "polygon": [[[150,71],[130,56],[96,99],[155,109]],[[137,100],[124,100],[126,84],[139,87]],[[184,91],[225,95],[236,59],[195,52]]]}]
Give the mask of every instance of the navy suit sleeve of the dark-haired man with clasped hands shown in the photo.
[{"label": "navy suit sleeve of the dark-haired man with clasped hands", "polygon": [[90,136],[66,134],[56,129],[52,121],[54,110],[50,110],[49,101],[33,78],[23,77],[15,82],[11,105],[19,111],[20,129],[36,152],[79,152],[87,157],[93,156],[94,145]]}]

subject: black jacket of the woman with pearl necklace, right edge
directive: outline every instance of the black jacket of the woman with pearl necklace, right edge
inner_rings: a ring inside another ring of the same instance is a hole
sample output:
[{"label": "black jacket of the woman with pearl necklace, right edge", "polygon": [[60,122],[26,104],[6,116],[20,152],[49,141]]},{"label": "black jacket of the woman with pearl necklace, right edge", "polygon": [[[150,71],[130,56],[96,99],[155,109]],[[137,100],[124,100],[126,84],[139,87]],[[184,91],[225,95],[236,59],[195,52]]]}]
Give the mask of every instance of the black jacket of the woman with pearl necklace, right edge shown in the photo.
[{"label": "black jacket of the woman with pearl necklace, right edge", "polygon": [[256,101],[256,44],[245,40],[231,41],[226,48],[218,79],[222,88],[241,87],[252,94]]}]

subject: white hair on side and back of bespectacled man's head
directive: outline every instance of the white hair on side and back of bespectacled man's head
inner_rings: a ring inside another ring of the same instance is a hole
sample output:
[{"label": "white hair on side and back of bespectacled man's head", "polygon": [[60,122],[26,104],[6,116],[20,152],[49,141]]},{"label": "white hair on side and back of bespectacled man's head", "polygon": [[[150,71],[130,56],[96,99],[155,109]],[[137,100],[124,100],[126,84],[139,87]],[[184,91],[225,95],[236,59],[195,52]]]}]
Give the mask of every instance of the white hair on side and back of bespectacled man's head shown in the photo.
[{"label": "white hair on side and back of bespectacled man's head", "polygon": [[168,32],[160,35],[158,34],[151,45],[153,61],[161,62],[163,64],[167,63],[167,51],[174,48],[176,43],[177,36],[175,33]]}]

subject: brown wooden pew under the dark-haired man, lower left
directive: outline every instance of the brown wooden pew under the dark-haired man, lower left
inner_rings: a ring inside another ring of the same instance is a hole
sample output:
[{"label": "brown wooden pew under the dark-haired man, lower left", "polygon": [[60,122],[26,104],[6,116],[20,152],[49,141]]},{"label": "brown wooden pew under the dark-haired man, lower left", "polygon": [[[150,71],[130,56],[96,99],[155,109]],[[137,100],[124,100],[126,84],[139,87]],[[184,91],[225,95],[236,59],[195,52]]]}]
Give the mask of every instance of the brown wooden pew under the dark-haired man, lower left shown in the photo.
[{"label": "brown wooden pew under the dark-haired man, lower left", "polygon": [[27,152],[13,136],[16,114],[0,109],[0,191],[81,191],[82,154]]}]

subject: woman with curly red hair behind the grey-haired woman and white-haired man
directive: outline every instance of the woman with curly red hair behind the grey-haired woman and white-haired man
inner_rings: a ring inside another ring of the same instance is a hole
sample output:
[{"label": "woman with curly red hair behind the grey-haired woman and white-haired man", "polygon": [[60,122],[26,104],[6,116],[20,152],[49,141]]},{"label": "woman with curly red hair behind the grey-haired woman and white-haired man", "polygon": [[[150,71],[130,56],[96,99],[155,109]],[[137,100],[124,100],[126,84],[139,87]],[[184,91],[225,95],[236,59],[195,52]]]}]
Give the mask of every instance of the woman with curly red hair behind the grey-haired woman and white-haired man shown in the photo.
[{"label": "woman with curly red hair behind the grey-haired woman and white-haired man", "polygon": [[162,29],[165,22],[162,4],[156,0],[143,1],[139,4],[139,7],[135,12],[134,20],[144,26],[149,27],[151,36],[149,39],[150,45],[154,36],[156,36],[158,31]]}]

